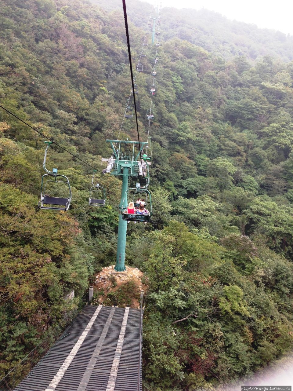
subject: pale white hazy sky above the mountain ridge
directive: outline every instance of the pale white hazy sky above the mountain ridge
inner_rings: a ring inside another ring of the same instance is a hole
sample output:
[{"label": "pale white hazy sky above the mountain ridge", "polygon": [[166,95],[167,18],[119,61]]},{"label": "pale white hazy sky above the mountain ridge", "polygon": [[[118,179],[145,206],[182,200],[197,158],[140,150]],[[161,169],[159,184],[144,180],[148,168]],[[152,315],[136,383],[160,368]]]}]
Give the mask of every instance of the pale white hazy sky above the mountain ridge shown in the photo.
[{"label": "pale white hazy sky above the mountain ridge", "polygon": [[279,30],[293,35],[293,2],[291,0],[162,0],[163,7],[206,8],[228,19],[254,23],[259,28]]}]

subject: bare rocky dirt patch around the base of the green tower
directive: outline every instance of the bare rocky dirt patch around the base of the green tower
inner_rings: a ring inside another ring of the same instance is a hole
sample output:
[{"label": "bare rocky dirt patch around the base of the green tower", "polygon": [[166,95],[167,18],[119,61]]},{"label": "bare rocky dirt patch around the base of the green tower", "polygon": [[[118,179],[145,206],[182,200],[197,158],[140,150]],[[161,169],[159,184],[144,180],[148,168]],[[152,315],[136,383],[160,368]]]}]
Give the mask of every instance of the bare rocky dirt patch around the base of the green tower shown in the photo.
[{"label": "bare rocky dirt patch around the base of the green tower", "polygon": [[93,304],[139,308],[140,294],[147,291],[147,279],[137,267],[126,266],[116,272],[114,266],[104,267],[96,275]]}]

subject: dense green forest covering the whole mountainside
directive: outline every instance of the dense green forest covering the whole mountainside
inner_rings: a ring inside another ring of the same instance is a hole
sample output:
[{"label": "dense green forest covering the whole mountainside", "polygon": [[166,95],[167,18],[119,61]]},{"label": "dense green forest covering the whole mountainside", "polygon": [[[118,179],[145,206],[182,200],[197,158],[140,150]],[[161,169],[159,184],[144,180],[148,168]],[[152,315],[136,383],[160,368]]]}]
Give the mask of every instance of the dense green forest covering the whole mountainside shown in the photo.
[{"label": "dense green forest covering the whole mountainside", "polygon": [[[152,7],[127,7],[135,67]],[[149,286],[145,390],[212,390],[293,346],[292,46],[206,10],[162,9],[154,215],[128,224],[126,249]],[[155,50],[136,79],[142,141]],[[130,85],[118,1],[0,2],[0,104],[90,165],[111,156]],[[101,168],[107,202],[90,208],[91,169],[53,145],[48,165],[73,198],[68,212],[39,210],[45,140],[2,109],[0,133],[1,378],[114,264],[121,181]]]}]

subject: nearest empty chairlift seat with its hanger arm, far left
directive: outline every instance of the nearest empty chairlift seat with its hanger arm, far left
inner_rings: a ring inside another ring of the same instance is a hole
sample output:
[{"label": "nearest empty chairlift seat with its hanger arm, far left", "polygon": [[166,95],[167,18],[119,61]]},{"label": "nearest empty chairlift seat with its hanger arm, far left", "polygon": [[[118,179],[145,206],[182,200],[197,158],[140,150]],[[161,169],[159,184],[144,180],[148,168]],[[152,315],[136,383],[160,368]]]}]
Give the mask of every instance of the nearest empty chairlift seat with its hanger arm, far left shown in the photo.
[{"label": "nearest empty chairlift seat with its hanger arm, far left", "polygon": [[52,141],[45,141],[45,143],[47,146],[45,149],[43,169],[47,174],[42,176],[41,200],[38,206],[40,209],[68,210],[72,198],[69,179],[65,175],[58,174],[55,168],[52,171],[46,169],[47,151]]}]

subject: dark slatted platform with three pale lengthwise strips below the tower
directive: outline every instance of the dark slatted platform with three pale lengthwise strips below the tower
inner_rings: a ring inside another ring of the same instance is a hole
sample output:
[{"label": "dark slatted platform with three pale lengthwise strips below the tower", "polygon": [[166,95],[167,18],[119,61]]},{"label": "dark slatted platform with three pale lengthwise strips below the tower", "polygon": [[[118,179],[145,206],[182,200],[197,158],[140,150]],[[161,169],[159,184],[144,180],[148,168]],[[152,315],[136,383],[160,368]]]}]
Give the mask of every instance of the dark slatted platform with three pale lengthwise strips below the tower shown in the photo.
[{"label": "dark slatted platform with three pale lengthwise strips below the tower", "polygon": [[14,391],[141,391],[142,311],[86,305]]}]

